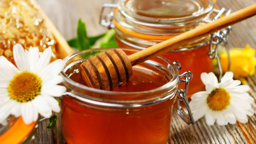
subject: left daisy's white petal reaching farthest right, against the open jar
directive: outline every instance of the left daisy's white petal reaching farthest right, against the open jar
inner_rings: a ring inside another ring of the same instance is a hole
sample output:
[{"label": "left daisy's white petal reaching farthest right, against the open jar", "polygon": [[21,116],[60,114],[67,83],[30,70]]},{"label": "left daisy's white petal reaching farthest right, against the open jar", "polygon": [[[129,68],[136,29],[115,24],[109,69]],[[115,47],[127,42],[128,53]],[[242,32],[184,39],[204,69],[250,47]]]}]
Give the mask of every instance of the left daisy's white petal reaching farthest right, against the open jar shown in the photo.
[{"label": "left daisy's white petal reaching farthest right, against the open jar", "polygon": [[42,88],[42,94],[48,96],[62,96],[66,92],[66,88],[64,86],[55,85],[51,88]]}]

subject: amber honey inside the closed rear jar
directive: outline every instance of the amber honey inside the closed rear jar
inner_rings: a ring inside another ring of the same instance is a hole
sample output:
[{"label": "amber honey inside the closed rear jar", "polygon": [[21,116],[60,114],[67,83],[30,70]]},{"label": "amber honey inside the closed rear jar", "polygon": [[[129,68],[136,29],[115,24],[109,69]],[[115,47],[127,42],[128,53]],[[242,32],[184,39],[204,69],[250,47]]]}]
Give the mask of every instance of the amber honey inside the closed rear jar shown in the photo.
[{"label": "amber honey inside the closed rear jar", "polygon": [[[117,39],[116,42],[119,47],[132,48],[130,46],[127,46],[126,44],[123,44]],[[180,52],[168,52],[166,54],[162,54],[162,56],[164,56],[171,62],[180,62],[182,67],[182,70],[179,70],[180,74],[186,71],[192,72],[193,78],[189,82],[188,98],[192,96],[192,94],[204,90],[204,84],[202,83],[202,80],[200,78],[201,73],[209,73],[213,70],[212,59],[210,59],[208,56],[209,48],[209,45],[205,45],[190,50]],[[184,87],[184,83],[179,84],[180,89],[184,89]]]}]

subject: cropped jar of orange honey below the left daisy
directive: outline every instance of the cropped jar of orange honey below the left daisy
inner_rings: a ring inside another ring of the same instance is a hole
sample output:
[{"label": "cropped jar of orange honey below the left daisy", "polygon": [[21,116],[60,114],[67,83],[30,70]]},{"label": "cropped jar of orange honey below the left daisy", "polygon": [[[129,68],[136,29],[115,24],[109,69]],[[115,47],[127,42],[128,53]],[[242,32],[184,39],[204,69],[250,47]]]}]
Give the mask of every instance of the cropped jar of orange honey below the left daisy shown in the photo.
[{"label": "cropped jar of orange honey below the left daisy", "polygon": [[37,127],[37,122],[27,125],[21,116],[10,116],[6,125],[0,124],[0,144],[31,144],[34,142]]}]

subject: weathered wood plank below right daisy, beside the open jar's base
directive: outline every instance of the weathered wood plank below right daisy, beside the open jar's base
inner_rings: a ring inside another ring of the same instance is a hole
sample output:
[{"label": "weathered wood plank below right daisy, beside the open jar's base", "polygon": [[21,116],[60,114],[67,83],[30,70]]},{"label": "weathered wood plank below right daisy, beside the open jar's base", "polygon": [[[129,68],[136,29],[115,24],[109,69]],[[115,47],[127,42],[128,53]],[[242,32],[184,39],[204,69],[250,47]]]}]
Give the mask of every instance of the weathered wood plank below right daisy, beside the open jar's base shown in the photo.
[{"label": "weathered wood plank below right daisy, beside the open jar's base", "polygon": [[194,125],[185,124],[176,113],[172,118],[171,144],[247,144],[237,125],[207,126],[204,118]]}]

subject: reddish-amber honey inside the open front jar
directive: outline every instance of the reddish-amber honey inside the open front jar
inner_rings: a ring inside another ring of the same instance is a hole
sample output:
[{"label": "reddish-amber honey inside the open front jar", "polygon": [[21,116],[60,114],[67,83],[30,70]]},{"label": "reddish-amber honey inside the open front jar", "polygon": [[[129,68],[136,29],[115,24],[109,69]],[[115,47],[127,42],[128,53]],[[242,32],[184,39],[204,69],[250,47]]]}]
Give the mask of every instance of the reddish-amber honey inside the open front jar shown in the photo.
[{"label": "reddish-amber honey inside the open front jar", "polygon": [[[140,92],[168,82],[158,72],[136,66],[134,78],[114,91]],[[80,74],[70,78],[83,84]],[[69,144],[166,144],[174,98],[139,108],[106,108],[64,96],[62,132]]]}]

